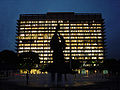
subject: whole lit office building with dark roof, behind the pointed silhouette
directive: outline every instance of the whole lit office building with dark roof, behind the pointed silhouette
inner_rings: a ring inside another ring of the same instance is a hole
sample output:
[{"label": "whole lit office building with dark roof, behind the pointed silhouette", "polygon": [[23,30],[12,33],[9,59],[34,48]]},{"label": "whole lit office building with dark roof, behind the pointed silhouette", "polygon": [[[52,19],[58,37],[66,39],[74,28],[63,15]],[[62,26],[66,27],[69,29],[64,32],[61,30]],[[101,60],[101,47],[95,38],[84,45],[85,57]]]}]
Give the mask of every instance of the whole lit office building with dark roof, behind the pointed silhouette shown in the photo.
[{"label": "whole lit office building with dark roof, behind the pointed silhouette", "polygon": [[98,66],[105,58],[104,20],[100,13],[57,12],[21,14],[17,23],[17,52],[39,54],[41,64],[53,63],[50,40],[56,26],[66,42],[66,62]]}]

